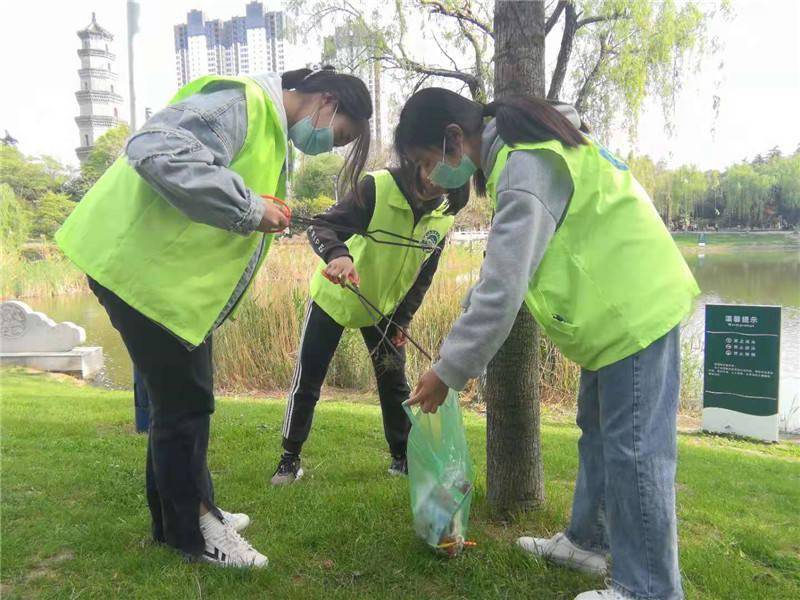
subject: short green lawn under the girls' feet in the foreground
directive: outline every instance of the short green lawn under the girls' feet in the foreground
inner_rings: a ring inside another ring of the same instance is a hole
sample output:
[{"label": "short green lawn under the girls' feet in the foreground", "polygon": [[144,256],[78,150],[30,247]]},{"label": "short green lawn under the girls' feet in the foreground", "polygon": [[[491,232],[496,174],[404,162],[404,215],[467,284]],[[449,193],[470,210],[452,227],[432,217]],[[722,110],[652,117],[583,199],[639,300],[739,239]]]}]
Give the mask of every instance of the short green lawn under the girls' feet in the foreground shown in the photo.
[{"label": "short green lawn under the girls' feet in the foreground", "polygon": [[[247,512],[264,571],[190,565],[148,541],[145,438],[129,393],[2,372],[4,598],[568,598],[602,585],[516,550],[561,530],[576,472],[574,425],[545,415],[547,503],[508,525],[484,502],[484,420],[466,416],[477,467],[461,558],[414,537],[404,479],[386,475],[377,406],[324,402],[306,478],[273,489],[283,402],[222,399],[210,452],[217,500]],[[688,598],[800,598],[800,448],[681,436],[681,563]]]}]

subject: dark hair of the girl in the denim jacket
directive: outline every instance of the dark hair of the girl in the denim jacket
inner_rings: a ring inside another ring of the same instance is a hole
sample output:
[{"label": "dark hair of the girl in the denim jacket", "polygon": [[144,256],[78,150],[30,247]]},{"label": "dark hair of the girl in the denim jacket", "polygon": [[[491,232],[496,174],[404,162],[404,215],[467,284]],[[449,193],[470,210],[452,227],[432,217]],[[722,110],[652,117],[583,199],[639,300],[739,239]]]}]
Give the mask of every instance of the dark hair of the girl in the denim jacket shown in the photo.
[{"label": "dark hair of the girl in the denim jacket", "polygon": [[340,197],[344,197],[348,188],[357,194],[358,180],[369,155],[372,98],[367,86],[358,77],[338,73],[333,67],[326,66],[316,71],[311,69],[287,71],[281,75],[281,87],[306,94],[327,92],[335,96],[339,103],[339,112],[353,119],[360,128],[358,137],[350,147],[342,165],[338,183]]}]

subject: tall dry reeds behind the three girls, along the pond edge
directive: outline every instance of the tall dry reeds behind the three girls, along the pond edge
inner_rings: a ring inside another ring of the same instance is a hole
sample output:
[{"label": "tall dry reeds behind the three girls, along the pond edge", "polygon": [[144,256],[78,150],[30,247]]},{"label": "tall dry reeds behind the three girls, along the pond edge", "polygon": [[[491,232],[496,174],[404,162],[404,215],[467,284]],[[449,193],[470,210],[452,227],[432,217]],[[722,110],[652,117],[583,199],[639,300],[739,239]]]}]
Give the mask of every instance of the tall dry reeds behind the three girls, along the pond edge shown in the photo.
[{"label": "tall dry reeds behind the three girls, along the pond edge", "polygon": [[[461,313],[461,300],[478,277],[482,252],[449,246],[439,272],[411,324],[411,335],[435,355]],[[217,381],[228,392],[287,389],[299,350],[308,282],[318,259],[305,244],[276,244],[234,321],[215,339]],[[407,373],[414,382],[430,362],[410,344]],[[540,385],[545,402],[574,402],[580,369],[541,336]],[[331,363],[328,385],[374,390],[373,368],[358,331],[346,331]],[[467,396],[474,399],[474,388]]]}]

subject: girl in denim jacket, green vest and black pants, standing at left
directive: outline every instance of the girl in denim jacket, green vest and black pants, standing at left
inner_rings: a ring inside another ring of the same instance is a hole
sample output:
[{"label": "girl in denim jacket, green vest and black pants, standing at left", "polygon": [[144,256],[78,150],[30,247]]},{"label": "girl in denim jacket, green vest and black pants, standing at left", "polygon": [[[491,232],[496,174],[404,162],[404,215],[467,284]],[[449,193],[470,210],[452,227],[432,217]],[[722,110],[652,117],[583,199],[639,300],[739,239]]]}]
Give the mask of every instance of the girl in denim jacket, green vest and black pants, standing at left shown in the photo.
[{"label": "girl in denim jacket, green vest and black pants, standing at left", "polygon": [[264,567],[221,510],[206,465],[213,331],[241,302],[286,215],[288,140],[306,154],[352,143],[358,181],[372,103],[332,69],[192,81],[128,141],[58,232],[120,332],[151,402],[146,490],[156,542],[192,560]]}]

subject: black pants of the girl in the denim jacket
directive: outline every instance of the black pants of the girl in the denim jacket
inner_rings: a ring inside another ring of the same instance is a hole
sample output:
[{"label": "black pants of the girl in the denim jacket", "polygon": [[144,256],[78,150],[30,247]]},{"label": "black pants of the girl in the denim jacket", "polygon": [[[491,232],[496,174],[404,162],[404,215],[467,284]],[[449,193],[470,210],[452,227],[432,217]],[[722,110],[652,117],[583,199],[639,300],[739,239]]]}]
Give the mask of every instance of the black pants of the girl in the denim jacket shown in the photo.
[{"label": "black pants of the girl in the denim jacket", "polygon": [[150,397],[145,488],[153,539],[202,554],[200,503],[221,517],[206,465],[214,412],[211,338],[190,351],[111,290],[92,279],[89,287],[122,336]]}]

